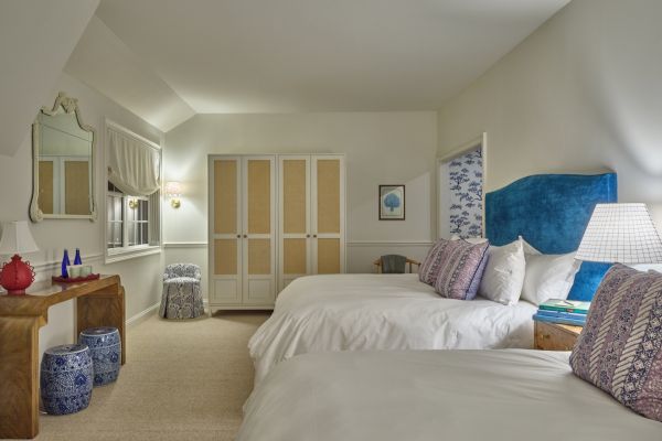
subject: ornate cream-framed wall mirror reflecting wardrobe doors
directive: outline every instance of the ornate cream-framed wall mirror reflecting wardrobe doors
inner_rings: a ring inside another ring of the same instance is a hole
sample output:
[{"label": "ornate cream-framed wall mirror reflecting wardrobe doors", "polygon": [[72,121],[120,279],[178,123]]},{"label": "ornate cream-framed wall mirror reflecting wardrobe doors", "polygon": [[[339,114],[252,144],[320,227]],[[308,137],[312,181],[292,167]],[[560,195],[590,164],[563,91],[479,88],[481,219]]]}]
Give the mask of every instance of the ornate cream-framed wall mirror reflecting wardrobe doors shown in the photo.
[{"label": "ornate cream-framed wall mirror reflecting wardrobe doors", "polygon": [[95,130],[83,122],[77,99],[61,92],[52,109],[41,109],[32,125],[33,222],[96,219],[95,148]]}]

